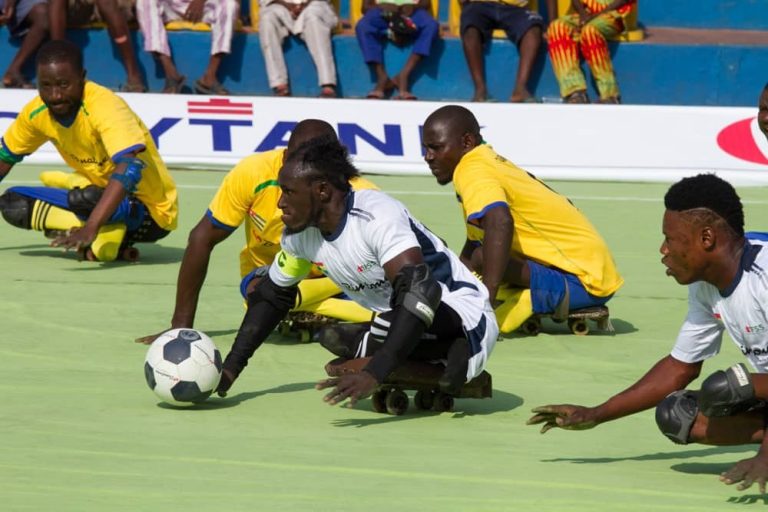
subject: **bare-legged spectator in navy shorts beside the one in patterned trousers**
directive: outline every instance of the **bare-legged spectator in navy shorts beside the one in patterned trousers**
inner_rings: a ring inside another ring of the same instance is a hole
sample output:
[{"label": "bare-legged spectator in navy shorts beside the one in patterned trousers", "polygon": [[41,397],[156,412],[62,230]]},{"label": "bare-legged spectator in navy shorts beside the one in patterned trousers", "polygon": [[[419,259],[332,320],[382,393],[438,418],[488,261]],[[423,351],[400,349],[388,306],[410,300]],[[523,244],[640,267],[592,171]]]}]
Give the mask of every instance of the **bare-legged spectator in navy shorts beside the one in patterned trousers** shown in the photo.
[{"label": "bare-legged spectator in navy shorts beside the one in patterned trousers", "polygon": [[[509,101],[514,103],[536,101],[528,90],[528,80],[541,46],[544,19],[538,13],[527,9],[528,0],[459,0],[459,3],[461,4],[461,43],[475,86],[472,101],[488,99],[483,45],[491,40],[493,31],[498,28],[507,33],[507,37],[517,45],[520,53],[515,88]],[[547,11],[557,12],[555,0],[547,0]]]}]

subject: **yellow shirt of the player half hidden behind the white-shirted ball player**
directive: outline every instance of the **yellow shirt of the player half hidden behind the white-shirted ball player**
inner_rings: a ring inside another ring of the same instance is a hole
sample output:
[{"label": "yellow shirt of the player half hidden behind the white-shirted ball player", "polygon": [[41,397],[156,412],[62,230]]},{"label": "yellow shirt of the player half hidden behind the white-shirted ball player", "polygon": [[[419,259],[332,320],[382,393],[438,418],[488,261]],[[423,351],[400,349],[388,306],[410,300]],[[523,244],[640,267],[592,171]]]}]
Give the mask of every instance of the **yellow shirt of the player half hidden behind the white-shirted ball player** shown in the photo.
[{"label": "yellow shirt of the player half hidden behind the white-shirted ball player", "polygon": [[[216,227],[234,231],[245,221],[245,247],[240,252],[240,276],[269,265],[280,251],[283,212],[277,207],[280,185],[277,174],[283,166],[285,148],[273,149],[242,159],[224,177],[208,206],[207,217]],[[355,190],[377,188],[358,177],[350,182]]]}]

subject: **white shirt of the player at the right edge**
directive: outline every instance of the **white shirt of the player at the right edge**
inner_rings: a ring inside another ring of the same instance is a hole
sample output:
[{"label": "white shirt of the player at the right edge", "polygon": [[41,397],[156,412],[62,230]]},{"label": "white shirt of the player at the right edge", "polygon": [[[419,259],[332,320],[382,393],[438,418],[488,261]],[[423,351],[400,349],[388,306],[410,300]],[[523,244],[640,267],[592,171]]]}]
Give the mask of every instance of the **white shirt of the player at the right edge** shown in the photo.
[{"label": "white shirt of the player at the right edge", "polygon": [[723,294],[697,282],[688,287],[688,316],[672,357],[696,363],[720,351],[723,332],[736,342],[752,366],[768,373],[768,236],[748,233],[740,271]]}]

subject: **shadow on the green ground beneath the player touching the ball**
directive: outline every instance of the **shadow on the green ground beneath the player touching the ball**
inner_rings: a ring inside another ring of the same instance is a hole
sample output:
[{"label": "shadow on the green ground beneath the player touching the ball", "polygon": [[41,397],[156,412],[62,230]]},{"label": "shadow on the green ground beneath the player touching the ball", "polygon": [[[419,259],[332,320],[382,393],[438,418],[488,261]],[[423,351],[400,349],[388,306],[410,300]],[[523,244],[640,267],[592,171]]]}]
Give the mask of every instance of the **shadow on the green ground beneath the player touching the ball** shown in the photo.
[{"label": "shadow on the green ground beneath the player touching the ball", "polygon": [[356,409],[369,410],[373,417],[370,418],[347,418],[339,419],[333,422],[335,427],[370,427],[374,425],[384,425],[396,421],[416,420],[436,415],[446,416],[448,419],[462,419],[471,416],[480,416],[494,414],[497,412],[507,412],[523,405],[523,399],[513,393],[506,391],[493,390],[492,398],[474,399],[457,398],[452,412],[420,411],[413,405],[413,395],[410,396],[410,405],[408,410],[402,416],[383,414],[373,412],[370,398],[360,400],[355,405]]}]

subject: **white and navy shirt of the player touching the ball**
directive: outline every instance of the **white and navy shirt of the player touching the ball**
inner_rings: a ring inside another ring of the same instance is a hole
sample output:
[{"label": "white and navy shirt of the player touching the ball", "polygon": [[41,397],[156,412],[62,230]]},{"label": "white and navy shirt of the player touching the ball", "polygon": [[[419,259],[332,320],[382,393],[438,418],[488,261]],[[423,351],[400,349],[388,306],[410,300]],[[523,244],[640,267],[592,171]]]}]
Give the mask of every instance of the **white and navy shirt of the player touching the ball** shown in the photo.
[{"label": "white and navy shirt of the player touching the ball", "polygon": [[[462,320],[472,354],[468,378],[485,367],[499,333],[487,289],[399,201],[378,190],[350,192],[346,215],[335,233],[324,237],[309,227],[283,233],[281,245],[287,255],[314,263],[351,299],[376,312],[391,309],[392,286],[383,265],[408,249],[421,248],[432,277],[440,283],[442,302]],[[280,260],[276,258],[269,269],[276,284],[291,286],[306,275],[287,273]]]}]

